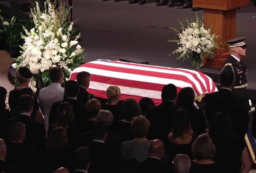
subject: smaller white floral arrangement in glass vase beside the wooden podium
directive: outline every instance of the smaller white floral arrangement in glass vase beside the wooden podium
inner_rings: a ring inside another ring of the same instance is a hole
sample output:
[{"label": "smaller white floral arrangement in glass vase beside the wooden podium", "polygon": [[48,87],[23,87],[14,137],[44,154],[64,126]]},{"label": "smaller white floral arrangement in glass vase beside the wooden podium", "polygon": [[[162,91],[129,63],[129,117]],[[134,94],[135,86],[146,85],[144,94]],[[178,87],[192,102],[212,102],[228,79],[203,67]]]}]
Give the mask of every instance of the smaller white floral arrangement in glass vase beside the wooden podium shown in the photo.
[{"label": "smaller white floral arrangement in glass vase beside the wooden podium", "polygon": [[[196,20],[191,19],[191,22],[186,18],[185,21],[188,24],[188,27],[185,28],[182,21],[178,20],[178,23],[181,25],[182,32],[177,30],[174,27],[170,27],[172,30],[178,32],[178,40],[168,40],[168,42],[176,42],[180,47],[174,50],[170,55],[175,53],[181,53],[177,58],[183,58],[183,61],[188,61],[191,58],[191,63],[196,68],[199,68],[203,64],[203,55],[206,55],[210,58],[214,58],[216,49],[222,49],[220,45],[225,43],[216,43],[215,38],[220,38],[220,35],[212,34],[211,35],[211,26],[207,29],[204,28],[202,20],[198,17],[196,13]],[[169,55],[169,56],[170,56]]]}]

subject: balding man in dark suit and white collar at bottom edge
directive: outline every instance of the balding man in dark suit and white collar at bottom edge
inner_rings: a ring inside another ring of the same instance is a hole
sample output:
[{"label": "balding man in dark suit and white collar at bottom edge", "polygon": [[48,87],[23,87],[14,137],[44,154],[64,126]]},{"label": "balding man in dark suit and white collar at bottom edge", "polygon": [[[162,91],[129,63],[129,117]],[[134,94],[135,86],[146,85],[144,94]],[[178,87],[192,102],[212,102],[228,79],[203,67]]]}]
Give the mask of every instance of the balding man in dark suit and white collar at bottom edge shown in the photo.
[{"label": "balding man in dark suit and white collar at bottom edge", "polygon": [[142,173],[174,173],[172,168],[161,161],[163,149],[163,143],[159,139],[151,142],[148,149],[148,158],[141,163]]}]

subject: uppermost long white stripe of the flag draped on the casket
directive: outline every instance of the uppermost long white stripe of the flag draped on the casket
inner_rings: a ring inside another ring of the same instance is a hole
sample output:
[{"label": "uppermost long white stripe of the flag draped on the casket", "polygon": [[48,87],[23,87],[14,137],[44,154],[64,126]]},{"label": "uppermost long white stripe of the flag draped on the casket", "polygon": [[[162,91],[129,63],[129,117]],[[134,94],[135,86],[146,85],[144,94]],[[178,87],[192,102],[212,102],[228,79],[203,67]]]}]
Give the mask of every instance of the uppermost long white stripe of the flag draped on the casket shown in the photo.
[{"label": "uppermost long white stripe of the flag draped on the casket", "polygon": [[188,74],[186,72],[179,72],[179,71],[165,70],[165,69],[155,69],[154,66],[152,66],[151,68],[148,68],[148,67],[141,67],[141,66],[126,65],[126,64],[116,64],[116,63],[110,63],[110,62],[104,62],[104,61],[91,61],[91,62],[87,62],[87,64],[100,64],[100,65],[113,66],[113,67],[126,68],[126,69],[136,69],[136,70],[144,70],[149,72],[182,75],[182,76],[188,77],[188,80],[191,80],[196,85],[196,88],[199,91],[199,93],[203,94],[203,91],[199,82],[191,74]]}]

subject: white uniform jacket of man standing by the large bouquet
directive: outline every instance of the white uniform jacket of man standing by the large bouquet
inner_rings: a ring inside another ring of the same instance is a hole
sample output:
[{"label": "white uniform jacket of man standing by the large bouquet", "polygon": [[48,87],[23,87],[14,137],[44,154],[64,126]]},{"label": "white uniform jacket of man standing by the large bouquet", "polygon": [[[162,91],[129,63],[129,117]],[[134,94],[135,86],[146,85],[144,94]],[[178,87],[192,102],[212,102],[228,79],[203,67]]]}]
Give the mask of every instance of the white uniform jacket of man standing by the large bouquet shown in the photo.
[{"label": "white uniform jacket of man standing by the large bouquet", "polygon": [[42,88],[39,92],[39,107],[42,114],[44,115],[44,124],[46,136],[49,126],[49,114],[52,107],[52,104],[57,101],[62,101],[64,99],[64,88],[61,87],[59,83],[52,83],[46,88]]}]

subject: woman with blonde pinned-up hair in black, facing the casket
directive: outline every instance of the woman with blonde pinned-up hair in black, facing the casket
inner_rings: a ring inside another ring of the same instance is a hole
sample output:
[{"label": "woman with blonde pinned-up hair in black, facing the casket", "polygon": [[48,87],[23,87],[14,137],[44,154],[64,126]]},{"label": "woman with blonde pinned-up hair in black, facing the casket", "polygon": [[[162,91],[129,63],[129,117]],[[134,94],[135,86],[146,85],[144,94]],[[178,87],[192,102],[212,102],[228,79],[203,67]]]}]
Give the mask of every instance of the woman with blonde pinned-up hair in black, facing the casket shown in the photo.
[{"label": "woman with blonde pinned-up hair in black, facing the casket", "polygon": [[106,91],[106,96],[108,98],[108,102],[106,104],[101,105],[102,110],[107,110],[112,112],[113,114],[113,123],[120,120],[121,115],[121,90],[118,86],[109,86]]}]

